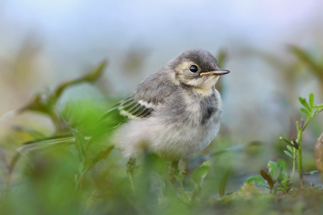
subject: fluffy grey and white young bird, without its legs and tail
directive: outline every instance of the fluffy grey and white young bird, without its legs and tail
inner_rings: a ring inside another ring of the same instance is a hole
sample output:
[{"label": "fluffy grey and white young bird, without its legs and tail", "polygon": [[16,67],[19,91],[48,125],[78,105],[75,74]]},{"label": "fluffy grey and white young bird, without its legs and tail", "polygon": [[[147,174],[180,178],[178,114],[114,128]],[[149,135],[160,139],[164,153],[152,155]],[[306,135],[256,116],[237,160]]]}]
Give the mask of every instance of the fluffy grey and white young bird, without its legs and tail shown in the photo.
[{"label": "fluffy grey and white young bird, without its legs and tail", "polygon": [[117,128],[115,144],[126,157],[148,151],[171,161],[201,151],[220,128],[222,101],[214,85],[225,73],[209,52],[184,51],[113,108],[130,119]]}]

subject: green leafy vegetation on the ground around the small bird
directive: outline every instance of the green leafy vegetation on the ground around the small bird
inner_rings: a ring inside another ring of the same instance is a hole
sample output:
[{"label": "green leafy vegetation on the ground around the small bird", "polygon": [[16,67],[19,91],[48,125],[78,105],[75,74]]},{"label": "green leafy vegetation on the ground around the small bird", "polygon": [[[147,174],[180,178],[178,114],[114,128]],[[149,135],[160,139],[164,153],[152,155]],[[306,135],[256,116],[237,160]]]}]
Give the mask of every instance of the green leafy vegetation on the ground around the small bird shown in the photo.
[{"label": "green leafy vegetation on the ground around the small bird", "polygon": [[[286,62],[266,53],[249,54],[274,65],[285,77],[288,89],[297,85],[297,71],[313,72],[323,86],[322,64],[299,47],[290,46],[290,50],[295,58]],[[144,56],[129,53],[127,61],[141,62]],[[217,56],[219,66],[225,68],[230,55],[221,51]],[[140,62],[136,69],[141,68]],[[44,115],[55,125],[55,130],[9,124],[10,131],[0,139],[1,214],[320,214],[323,211],[321,177],[317,173],[317,169],[323,171],[322,138],[316,144],[315,159],[314,142],[302,139],[302,135],[322,132],[316,114],[323,107],[314,103],[313,94],[308,99],[299,98],[306,120],[295,111],[291,118],[297,118],[297,123],[295,126],[293,122],[291,132],[284,134],[286,139],[279,140],[283,135],[279,133],[276,142],[255,140],[237,145],[224,127],[209,147],[181,161],[180,169],[173,170],[174,185],[168,175],[170,164],[158,155],[145,154],[137,159],[135,166],[127,165],[121,152],[111,145],[113,129],[122,118],[116,114],[104,122],[99,120],[118,99],[81,98],[59,103],[68,88],[96,82],[105,66],[106,62],[102,62],[81,78],[37,93],[24,107],[11,112],[15,117],[23,112]],[[128,67],[125,63],[123,68],[126,71]],[[216,87],[221,91],[223,85],[219,82]],[[294,111],[295,91],[286,92]],[[320,95],[316,101],[322,102]],[[9,123],[9,115],[2,118],[3,124]],[[47,138],[57,135],[56,139]],[[21,145],[23,142],[27,143]],[[274,156],[268,156],[269,150],[276,150]]]}]

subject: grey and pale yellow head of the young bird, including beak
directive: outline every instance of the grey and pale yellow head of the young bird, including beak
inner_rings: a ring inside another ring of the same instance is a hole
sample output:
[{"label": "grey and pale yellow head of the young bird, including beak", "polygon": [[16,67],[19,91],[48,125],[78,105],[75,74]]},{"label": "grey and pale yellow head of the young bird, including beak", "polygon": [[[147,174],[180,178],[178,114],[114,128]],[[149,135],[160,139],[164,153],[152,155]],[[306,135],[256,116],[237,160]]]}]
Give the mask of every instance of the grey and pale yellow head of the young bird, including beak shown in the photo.
[{"label": "grey and pale yellow head of the young bird, including beak", "polygon": [[187,88],[209,90],[220,75],[230,73],[220,69],[215,57],[203,49],[189,49],[178,55],[169,64],[177,83]]}]

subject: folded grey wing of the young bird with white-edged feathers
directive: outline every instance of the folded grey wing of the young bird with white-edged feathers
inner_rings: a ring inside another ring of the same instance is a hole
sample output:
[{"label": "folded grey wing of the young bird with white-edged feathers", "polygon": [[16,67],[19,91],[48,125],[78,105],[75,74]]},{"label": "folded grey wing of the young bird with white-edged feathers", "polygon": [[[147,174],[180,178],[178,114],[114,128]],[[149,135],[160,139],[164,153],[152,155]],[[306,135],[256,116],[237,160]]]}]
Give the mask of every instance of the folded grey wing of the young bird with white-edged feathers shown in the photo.
[{"label": "folded grey wing of the young bird with white-edged feathers", "polygon": [[158,104],[175,92],[175,88],[165,85],[156,87],[140,87],[138,90],[113,106],[103,117],[102,120],[118,110],[120,115],[128,119],[139,119],[147,116],[152,110],[158,108]]}]

